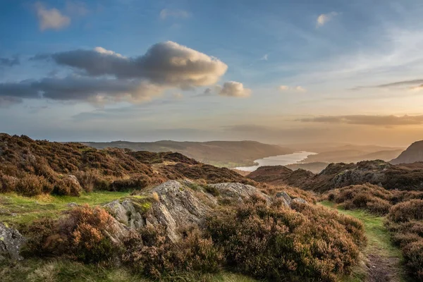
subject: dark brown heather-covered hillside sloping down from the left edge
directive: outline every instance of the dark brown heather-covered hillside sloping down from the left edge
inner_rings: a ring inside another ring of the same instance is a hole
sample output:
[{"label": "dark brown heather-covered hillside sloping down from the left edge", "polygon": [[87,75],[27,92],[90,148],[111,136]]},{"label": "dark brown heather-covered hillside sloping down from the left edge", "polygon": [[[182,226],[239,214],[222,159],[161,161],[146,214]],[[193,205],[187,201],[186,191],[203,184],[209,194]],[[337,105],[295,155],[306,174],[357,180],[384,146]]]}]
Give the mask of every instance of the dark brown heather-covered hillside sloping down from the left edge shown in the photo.
[{"label": "dark brown heather-covered hillside sloping down from the left edge", "polygon": [[0,134],[0,161],[0,188],[23,195],[80,195],[94,188],[128,190],[181,178],[249,182],[228,168],[202,164],[179,153],[94,149],[7,134]]}]

